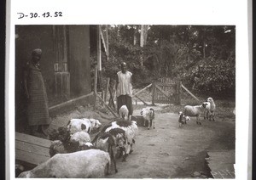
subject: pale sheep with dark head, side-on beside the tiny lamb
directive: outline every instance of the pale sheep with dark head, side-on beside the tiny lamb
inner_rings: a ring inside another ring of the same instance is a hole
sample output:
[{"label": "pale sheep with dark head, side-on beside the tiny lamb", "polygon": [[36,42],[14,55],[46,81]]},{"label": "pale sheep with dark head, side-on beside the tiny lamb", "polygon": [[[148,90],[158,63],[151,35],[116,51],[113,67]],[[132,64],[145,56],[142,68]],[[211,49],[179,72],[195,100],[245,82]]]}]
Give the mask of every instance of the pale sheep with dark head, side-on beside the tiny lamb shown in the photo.
[{"label": "pale sheep with dark head, side-on beside the tiny lamb", "polygon": [[186,105],[183,110],[183,115],[185,116],[196,116],[196,124],[201,125],[200,115],[202,111],[206,108],[206,104],[201,105]]}]

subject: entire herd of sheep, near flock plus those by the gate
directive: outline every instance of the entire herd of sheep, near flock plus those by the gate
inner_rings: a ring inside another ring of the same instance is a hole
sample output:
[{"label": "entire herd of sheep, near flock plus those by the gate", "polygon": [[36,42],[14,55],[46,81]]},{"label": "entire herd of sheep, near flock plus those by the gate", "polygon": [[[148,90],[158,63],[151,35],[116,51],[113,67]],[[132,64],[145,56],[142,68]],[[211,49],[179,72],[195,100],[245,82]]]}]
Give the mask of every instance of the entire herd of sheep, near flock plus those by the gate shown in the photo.
[{"label": "entire herd of sheep, near flock plus those by the gate", "polygon": [[[186,105],[179,112],[179,127],[183,127],[189,116],[196,116],[196,123],[201,125],[200,115],[214,121],[215,104],[212,98],[201,105]],[[137,134],[137,121],[131,121],[127,107],[119,110],[119,118],[102,127],[96,119],[72,119],[67,127],[54,130],[49,138],[52,144],[49,148],[50,159],[36,166],[31,171],[20,173],[19,177],[105,177],[118,172],[116,157],[126,161],[126,157],[133,151]],[[143,108],[143,125],[148,129],[154,127],[154,109]],[[95,138],[90,134],[98,132]]]}]

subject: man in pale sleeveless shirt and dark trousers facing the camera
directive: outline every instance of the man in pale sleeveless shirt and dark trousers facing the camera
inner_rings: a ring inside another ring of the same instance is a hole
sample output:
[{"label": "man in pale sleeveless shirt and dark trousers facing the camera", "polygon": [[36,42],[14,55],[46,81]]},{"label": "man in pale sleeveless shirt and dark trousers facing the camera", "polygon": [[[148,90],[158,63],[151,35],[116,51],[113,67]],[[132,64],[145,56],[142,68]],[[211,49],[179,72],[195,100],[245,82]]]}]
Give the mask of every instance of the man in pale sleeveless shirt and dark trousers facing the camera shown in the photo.
[{"label": "man in pale sleeveless shirt and dark trousers facing the camera", "polygon": [[117,86],[116,86],[116,96],[117,96],[117,109],[119,111],[122,105],[126,105],[129,110],[129,120],[131,120],[132,115],[132,73],[127,70],[127,65],[125,62],[121,63],[121,70],[117,73]]}]

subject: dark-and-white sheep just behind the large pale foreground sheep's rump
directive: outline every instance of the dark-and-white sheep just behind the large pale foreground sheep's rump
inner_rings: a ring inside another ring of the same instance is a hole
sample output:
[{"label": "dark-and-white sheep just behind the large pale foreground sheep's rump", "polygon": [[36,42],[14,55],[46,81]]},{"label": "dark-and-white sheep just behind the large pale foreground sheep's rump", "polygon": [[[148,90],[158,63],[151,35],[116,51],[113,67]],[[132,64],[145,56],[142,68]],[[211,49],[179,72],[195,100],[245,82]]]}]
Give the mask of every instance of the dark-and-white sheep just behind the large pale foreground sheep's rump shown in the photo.
[{"label": "dark-and-white sheep just behind the large pale foreground sheep's rump", "polygon": [[125,131],[121,128],[114,128],[109,132],[100,132],[96,135],[96,138],[94,138],[92,142],[96,148],[102,149],[109,153],[110,158],[113,161],[114,170],[115,172],[118,172],[115,156],[118,148],[125,148]]}]

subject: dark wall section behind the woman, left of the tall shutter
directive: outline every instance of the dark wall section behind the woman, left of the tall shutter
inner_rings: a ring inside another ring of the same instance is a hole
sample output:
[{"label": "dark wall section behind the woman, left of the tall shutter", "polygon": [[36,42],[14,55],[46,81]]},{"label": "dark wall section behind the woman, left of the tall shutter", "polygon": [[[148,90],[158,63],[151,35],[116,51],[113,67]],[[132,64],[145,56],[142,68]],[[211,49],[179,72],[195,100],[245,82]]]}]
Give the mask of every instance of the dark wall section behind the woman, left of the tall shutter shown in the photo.
[{"label": "dark wall section behind the woman, left of the tall shutter", "polygon": [[[51,25],[16,25],[15,27],[15,116],[22,124],[26,121],[26,98],[23,84],[23,71],[26,62],[31,59],[32,50],[41,48],[40,62],[45,87],[50,95],[53,92],[54,51]],[[23,121],[22,121],[23,120]]]}]

